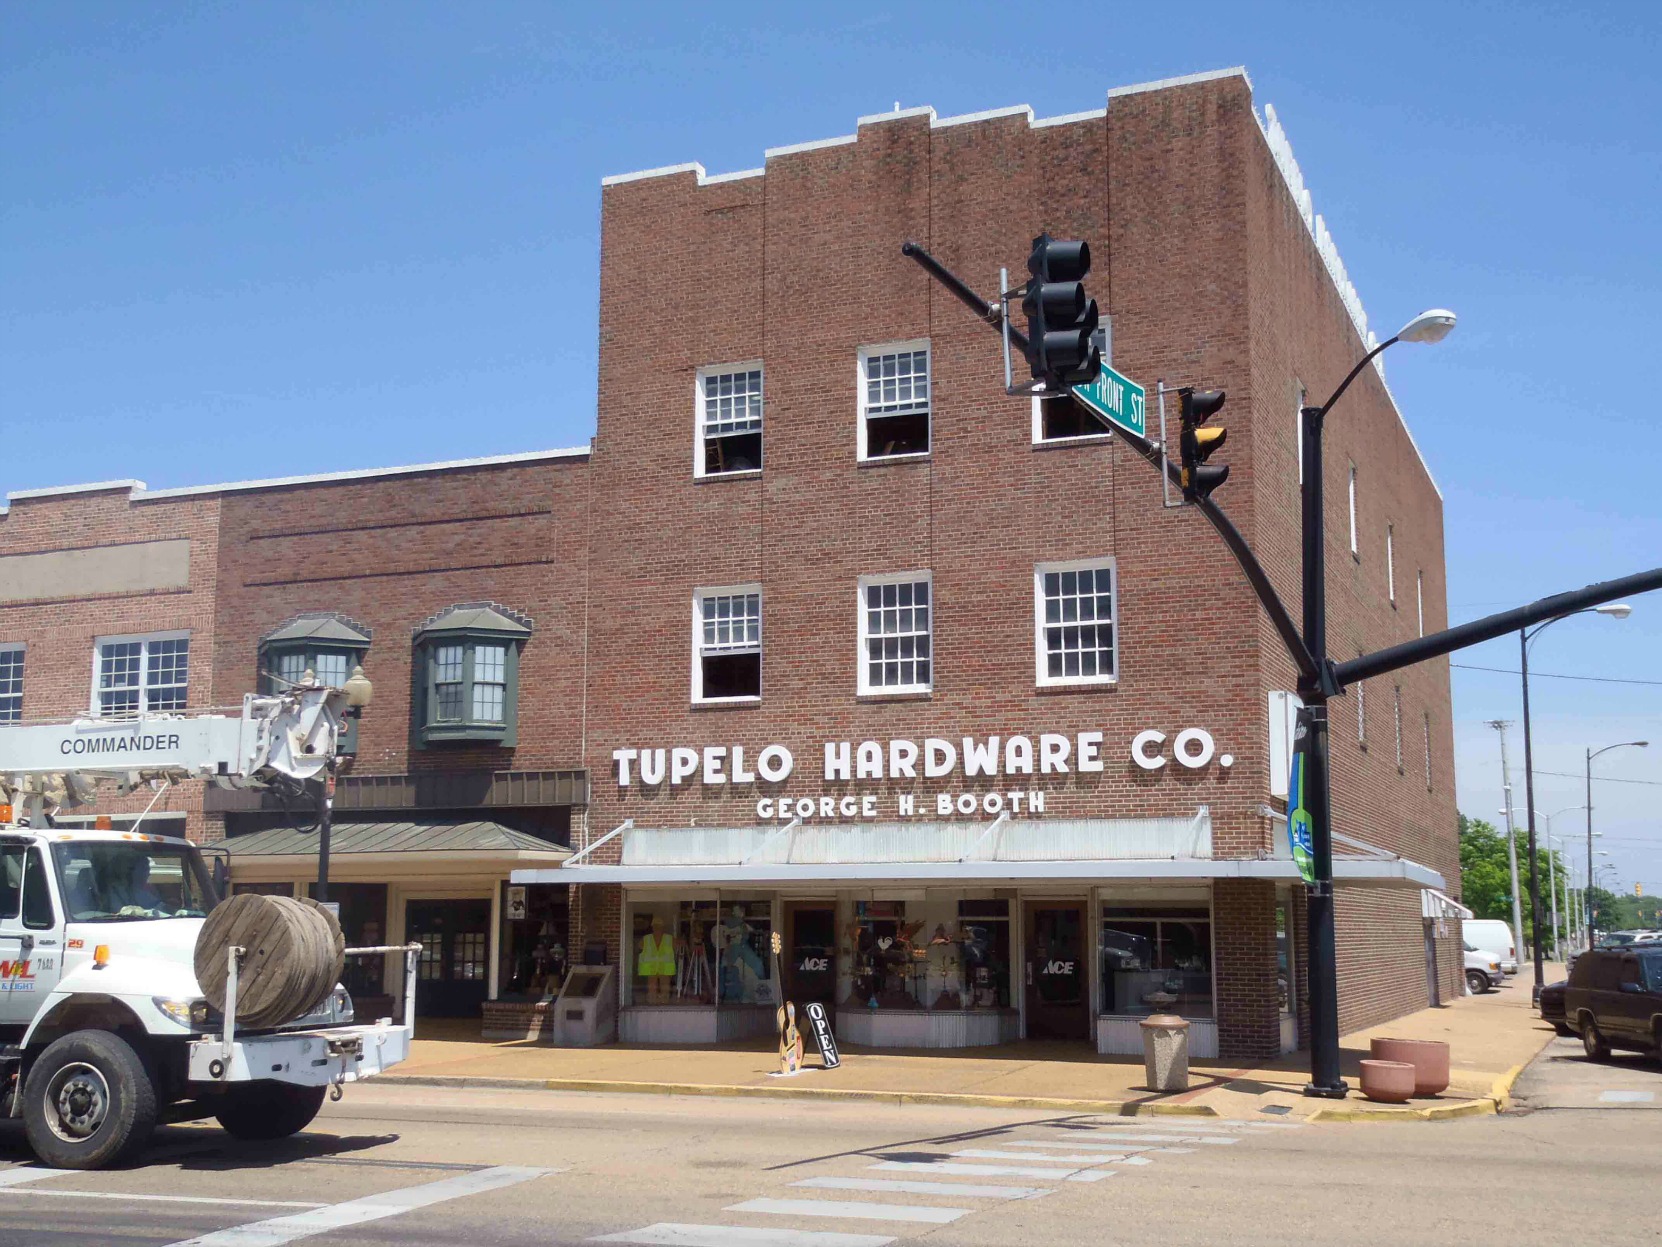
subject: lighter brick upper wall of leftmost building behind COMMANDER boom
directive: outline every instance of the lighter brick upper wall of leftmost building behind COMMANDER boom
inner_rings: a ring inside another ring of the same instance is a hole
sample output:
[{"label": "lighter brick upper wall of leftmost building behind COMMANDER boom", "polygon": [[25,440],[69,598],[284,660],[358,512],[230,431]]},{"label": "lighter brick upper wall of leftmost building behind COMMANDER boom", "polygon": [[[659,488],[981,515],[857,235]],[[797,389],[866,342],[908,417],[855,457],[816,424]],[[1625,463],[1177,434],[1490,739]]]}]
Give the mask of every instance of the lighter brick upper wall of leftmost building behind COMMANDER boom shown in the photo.
[{"label": "lighter brick upper wall of leftmost building behind COMMANDER boom", "polygon": [[[98,637],[189,632],[189,708],[213,707],[213,614],[219,549],[219,499],[213,495],[133,500],[126,485],[15,499],[0,515],[0,555],[189,540],[189,580],[158,592],[88,592],[78,585],[40,585],[38,594],[0,602],[0,642],[23,642],[23,718],[85,715],[91,705],[93,643]],[[105,795],[73,813],[133,813],[153,793]],[[201,785],[178,785],[156,810],[184,811],[186,831],[201,836]]]}]

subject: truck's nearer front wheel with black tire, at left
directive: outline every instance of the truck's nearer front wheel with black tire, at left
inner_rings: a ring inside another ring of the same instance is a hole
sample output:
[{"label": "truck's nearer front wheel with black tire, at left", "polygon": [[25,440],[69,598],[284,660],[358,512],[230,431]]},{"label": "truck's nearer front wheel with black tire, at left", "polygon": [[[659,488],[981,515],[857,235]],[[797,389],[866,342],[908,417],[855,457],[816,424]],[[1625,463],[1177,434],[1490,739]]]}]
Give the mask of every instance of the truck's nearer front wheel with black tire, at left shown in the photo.
[{"label": "truck's nearer front wheel with black tire, at left", "polygon": [[103,1169],[150,1139],[156,1087],[138,1052],[108,1031],[73,1031],[35,1059],[23,1084],[28,1146],[55,1169]]}]

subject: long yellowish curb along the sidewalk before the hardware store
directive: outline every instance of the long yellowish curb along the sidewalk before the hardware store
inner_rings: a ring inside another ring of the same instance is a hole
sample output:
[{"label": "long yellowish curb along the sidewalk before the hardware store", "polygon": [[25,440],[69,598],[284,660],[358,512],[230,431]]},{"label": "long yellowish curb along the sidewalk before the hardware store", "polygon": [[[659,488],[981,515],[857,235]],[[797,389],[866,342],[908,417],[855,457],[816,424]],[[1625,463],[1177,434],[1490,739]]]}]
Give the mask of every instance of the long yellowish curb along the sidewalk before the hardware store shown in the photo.
[{"label": "long yellowish curb along the sidewalk before the hardware store", "polygon": [[622,1096],[720,1096],[746,1099],[824,1099],[864,1104],[931,1104],[964,1109],[1052,1109],[1099,1112],[1117,1117],[1217,1117],[1207,1104],[1147,1104],[1114,1099],[1064,1099],[1050,1096],[974,1096],[949,1091],[861,1091],[851,1087],[768,1087],[718,1082],[633,1082],[582,1077],[469,1077],[465,1074],[382,1074],[376,1082],[407,1087],[585,1091]]}]

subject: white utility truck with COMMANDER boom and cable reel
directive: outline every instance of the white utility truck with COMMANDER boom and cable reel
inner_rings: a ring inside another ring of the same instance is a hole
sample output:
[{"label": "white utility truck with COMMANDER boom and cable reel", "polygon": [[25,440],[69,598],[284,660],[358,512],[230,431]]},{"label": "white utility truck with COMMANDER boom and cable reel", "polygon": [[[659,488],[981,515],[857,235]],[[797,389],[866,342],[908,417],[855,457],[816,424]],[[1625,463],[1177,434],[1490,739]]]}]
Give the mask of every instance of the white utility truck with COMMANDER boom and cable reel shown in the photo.
[{"label": "white utility truck with COMMANDER boom and cable reel", "polygon": [[[223,860],[209,868],[191,841],[145,833],[143,816],[133,830],[57,821],[100,781],[156,798],[183,780],[299,796],[332,776],[349,700],[307,680],[246,697],[241,713],[0,727],[0,1112],[23,1119],[45,1164],[116,1164],[158,1122],[216,1117],[243,1139],[289,1136],[331,1089],[339,1099],[342,1084],[409,1054],[417,946],[344,949],[334,919],[307,911],[334,939],[334,961],[312,971],[321,993],[306,989],[302,1016],[271,1024],[266,1008],[263,1026],[239,1024],[239,986],[253,996],[256,969],[271,969],[261,958],[286,944],[238,923],[233,934],[253,931],[246,944],[203,946],[229,886]],[[269,900],[239,896],[221,914]],[[342,953],[402,956],[402,1019],[354,1019],[336,978]],[[213,974],[198,973],[204,956]],[[201,988],[209,978],[218,1006]],[[276,981],[268,974],[268,988]]]}]

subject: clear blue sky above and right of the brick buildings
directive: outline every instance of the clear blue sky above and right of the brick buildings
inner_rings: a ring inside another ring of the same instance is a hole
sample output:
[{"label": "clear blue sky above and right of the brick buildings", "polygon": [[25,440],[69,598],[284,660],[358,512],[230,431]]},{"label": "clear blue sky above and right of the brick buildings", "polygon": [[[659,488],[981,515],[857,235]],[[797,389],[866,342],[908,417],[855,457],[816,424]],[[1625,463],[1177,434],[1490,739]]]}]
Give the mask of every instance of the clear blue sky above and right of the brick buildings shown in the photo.
[{"label": "clear blue sky above and right of the brick buildings", "polygon": [[[1044,12],[1072,28],[1032,38]],[[0,489],[580,444],[603,175],[1246,65],[1381,336],[1461,316],[1389,377],[1446,495],[1453,614],[1486,614],[1662,562],[1659,33],[1654,3],[1516,0],[7,5]],[[1662,594],[1534,662],[1662,680],[1659,653]],[[1542,771],[1655,742],[1601,760],[1655,786],[1594,800],[1624,888],[1662,891],[1662,687],[1534,688]],[[1517,682],[1454,693],[1461,808],[1492,816],[1484,720],[1517,718]],[[1567,805],[1542,775],[1537,806]]]}]

